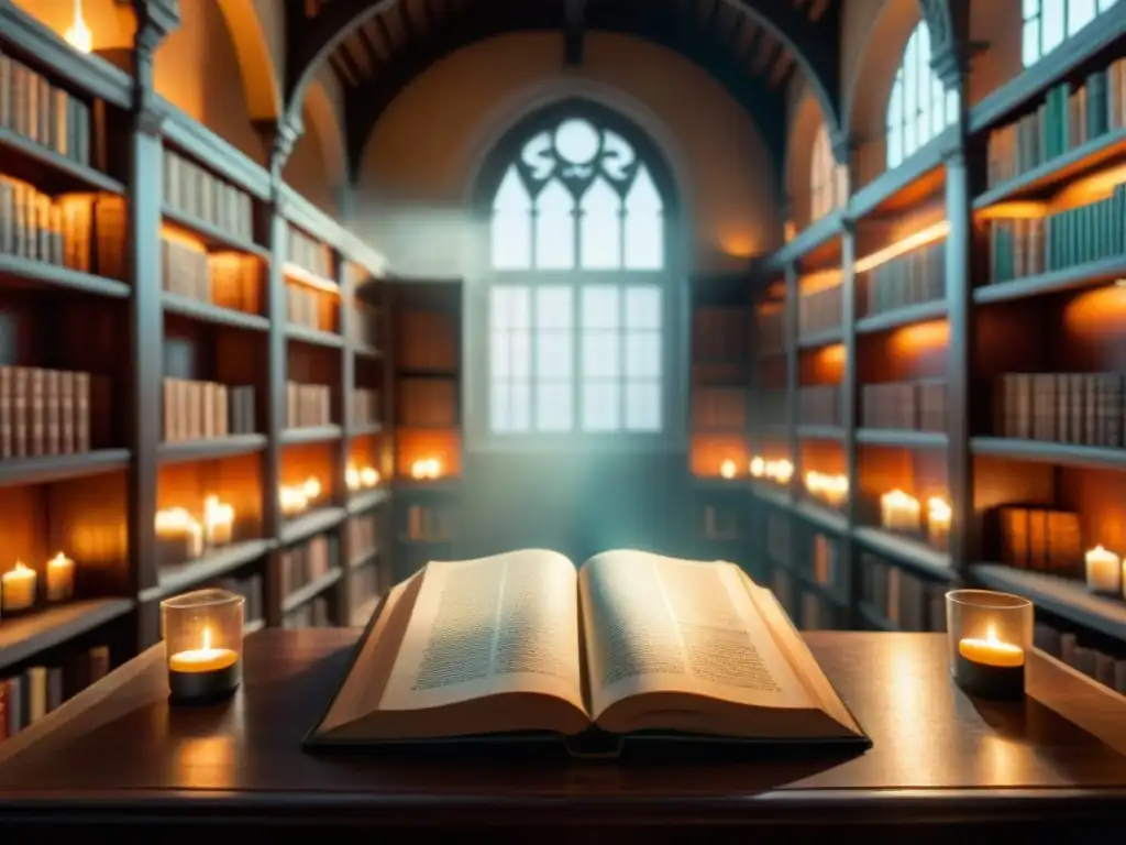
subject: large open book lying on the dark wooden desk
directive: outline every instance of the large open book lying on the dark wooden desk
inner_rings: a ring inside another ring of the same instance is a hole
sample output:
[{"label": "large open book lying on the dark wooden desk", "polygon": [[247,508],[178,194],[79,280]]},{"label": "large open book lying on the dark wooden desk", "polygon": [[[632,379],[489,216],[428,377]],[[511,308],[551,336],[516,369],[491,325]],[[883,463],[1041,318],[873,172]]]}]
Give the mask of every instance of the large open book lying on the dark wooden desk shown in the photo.
[{"label": "large open book lying on the dark wooden desk", "polygon": [[733,563],[527,550],[385,597],[307,746],[497,738],[869,745],[774,595]]}]

